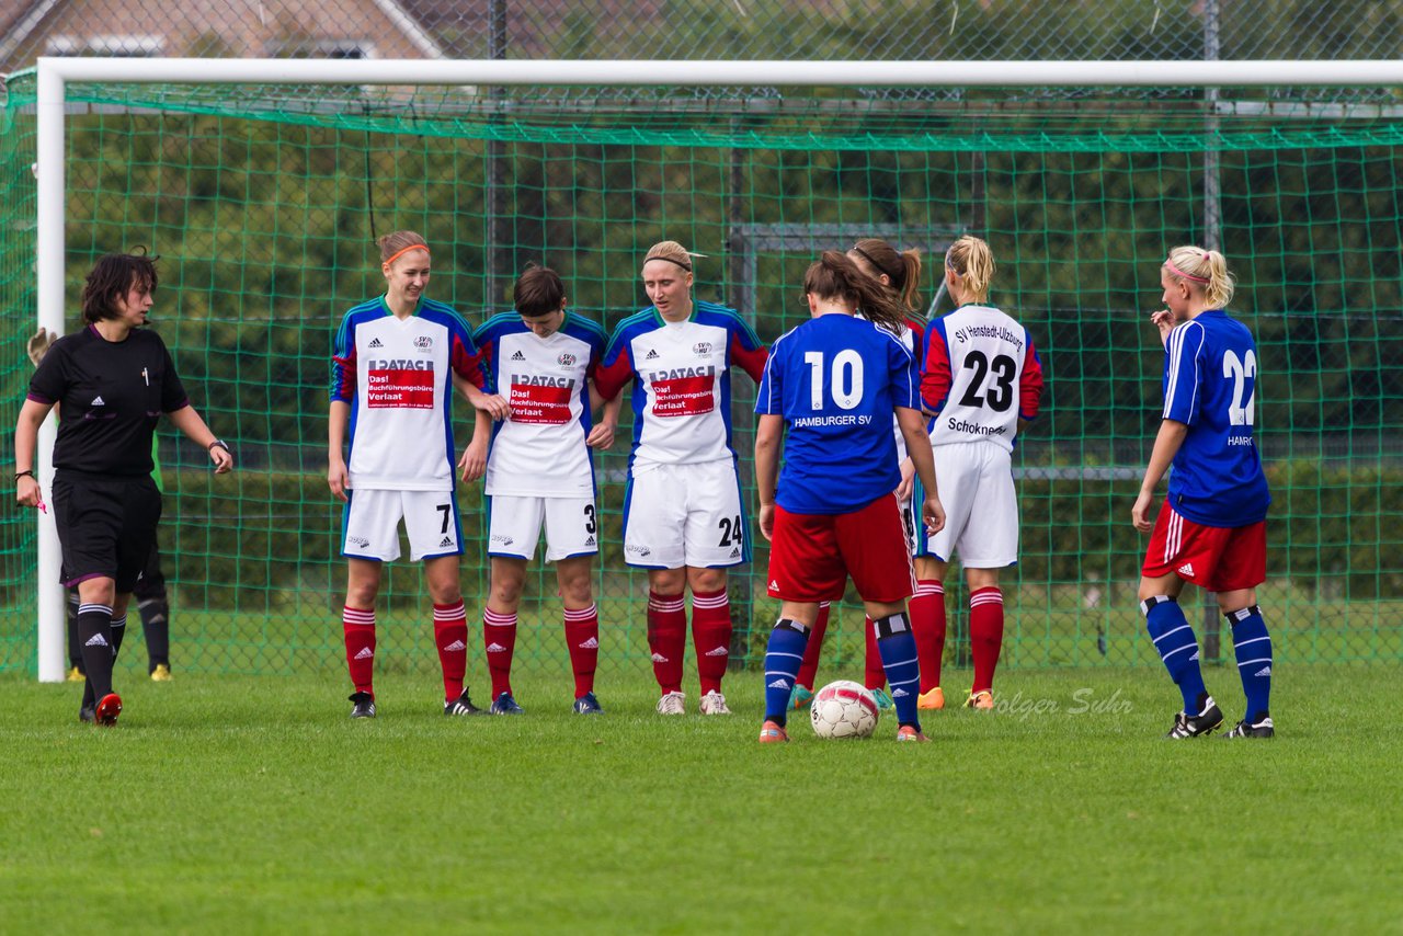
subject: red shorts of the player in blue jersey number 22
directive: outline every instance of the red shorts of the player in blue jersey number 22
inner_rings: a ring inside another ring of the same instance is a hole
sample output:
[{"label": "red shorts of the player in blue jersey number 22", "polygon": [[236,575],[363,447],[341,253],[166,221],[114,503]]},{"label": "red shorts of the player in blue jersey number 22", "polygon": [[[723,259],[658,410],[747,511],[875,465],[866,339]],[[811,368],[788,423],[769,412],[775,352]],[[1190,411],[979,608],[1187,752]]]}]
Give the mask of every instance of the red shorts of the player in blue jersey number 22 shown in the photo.
[{"label": "red shorts of the player in blue jersey number 22", "polygon": [[1214,592],[1256,588],[1267,581],[1267,522],[1204,526],[1180,516],[1166,501],[1141,574],[1160,578],[1170,573]]}]

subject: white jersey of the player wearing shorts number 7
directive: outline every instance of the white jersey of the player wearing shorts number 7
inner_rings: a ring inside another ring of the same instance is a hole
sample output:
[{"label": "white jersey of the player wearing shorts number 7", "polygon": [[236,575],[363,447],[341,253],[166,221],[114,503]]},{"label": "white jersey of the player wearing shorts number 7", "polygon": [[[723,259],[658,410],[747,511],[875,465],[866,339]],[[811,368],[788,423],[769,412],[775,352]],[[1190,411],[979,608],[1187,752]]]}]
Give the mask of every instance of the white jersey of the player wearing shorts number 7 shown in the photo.
[{"label": "white jersey of the player wearing shorts number 7", "polygon": [[467,321],[419,299],[396,319],[384,299],[345,314],[331,359],[331,399],[351,404],[351,487],[452,491],[450,372],[483,386]]}]

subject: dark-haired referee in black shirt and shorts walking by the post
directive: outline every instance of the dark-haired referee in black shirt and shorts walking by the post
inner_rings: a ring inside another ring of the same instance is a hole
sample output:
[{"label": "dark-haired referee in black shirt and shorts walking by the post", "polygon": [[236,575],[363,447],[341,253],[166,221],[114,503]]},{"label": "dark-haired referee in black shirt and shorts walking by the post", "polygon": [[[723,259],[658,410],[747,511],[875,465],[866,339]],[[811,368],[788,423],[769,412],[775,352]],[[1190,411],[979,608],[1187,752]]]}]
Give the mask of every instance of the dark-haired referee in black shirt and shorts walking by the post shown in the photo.
[{"label": "dark-haired referee in black shirt and shorts walking by the post", "polygon": [[59,406],[53,446],[53,519],[63,551],[62,581],[77,588],[79,643],[87,685],[79,718],[115,724],[122,699],[112,662],[126,630],[126,606],[146,568],[161,516],[152,479],[152,434],[164,413],[209,450],[215,473],[234,466],[189,404],[166,344],[147,331],[157,276],[153,257],[108,254],[83,286],[84,328],[53,342],[29,380],[14,429],[15,500],[43,507],[34,476],[39,425]]}]

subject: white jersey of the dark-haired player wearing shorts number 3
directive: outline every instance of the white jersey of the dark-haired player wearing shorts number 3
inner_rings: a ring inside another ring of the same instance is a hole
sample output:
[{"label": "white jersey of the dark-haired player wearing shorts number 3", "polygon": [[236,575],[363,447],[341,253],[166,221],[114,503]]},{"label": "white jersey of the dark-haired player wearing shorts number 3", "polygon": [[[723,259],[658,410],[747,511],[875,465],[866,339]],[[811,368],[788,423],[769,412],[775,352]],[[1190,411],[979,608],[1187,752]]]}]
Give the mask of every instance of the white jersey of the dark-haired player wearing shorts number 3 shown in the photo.
[{"label": "white jersey of the dark-haired player wearing shorts number 3", "polygon": [[540,338],[511,312],[473,333],[495,393],[512,414],[495,425],[487,457],[487,493],[512,497],[592,498],[589,377],[605,349],[605,331],[565,313]]}]

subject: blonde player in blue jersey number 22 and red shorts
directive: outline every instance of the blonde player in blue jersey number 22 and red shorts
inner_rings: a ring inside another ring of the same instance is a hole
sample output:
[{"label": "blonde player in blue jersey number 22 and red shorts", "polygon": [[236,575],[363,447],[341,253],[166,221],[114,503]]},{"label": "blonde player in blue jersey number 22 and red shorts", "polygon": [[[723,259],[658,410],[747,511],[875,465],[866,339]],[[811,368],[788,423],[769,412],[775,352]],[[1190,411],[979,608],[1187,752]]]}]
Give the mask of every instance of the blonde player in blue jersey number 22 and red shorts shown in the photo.
[{"label": "blonde player in blue jersey number 22 and red shorts", "polygon": [[[1164,408],[1131,521],[1150,533],[1141,612],[1184,700],[1167,737],[1197,738],[1223,723],[1198,668],[1198,639],[1179,608],[1184,582],[1194,582],[1218,592],[1247,696],[1246,717],[1226,737],[1270,738],[1271,636],[1257,585],[1267,580],[1271,491],[1253,438],[1257,348],[1251,331],[1225,312],[1233,282],[1216,250],[1176,247],[1159,279],[1164,309],[1150,319],[1164,345]],[[1155,488],[1170,464],[1169,493],[1152,522]]]}]

